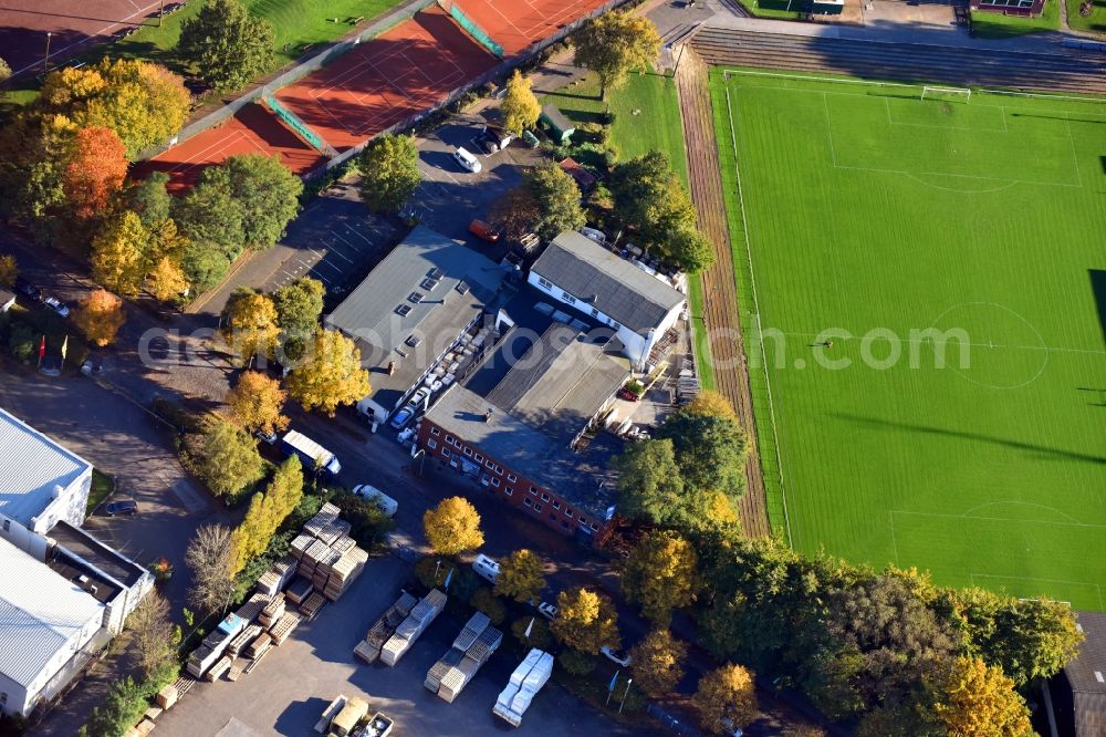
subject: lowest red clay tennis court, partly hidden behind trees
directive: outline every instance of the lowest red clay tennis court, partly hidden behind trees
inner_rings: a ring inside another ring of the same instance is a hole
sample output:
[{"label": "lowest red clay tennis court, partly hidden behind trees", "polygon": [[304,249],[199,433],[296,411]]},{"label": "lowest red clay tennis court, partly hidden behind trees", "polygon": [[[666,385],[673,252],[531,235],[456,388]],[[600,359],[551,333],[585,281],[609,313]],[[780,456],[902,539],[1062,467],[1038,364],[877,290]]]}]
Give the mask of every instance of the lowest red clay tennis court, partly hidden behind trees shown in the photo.
[{"label": "lowest red clay tennis court, partly hidden behind trees", "polygon": [[135,174],[142,178],[150,172],[165,172],[171,177],[169,189],[179,190],[196,184],[205,167],[238,154],[280,154],[281,163],[301,176],[323,162],[317,150],[281,125],[272,113],[251,104],[226,123],[144,162]]}]

